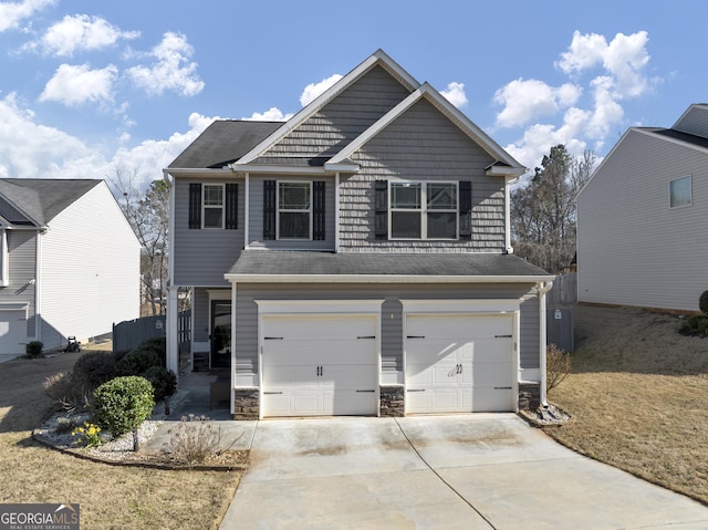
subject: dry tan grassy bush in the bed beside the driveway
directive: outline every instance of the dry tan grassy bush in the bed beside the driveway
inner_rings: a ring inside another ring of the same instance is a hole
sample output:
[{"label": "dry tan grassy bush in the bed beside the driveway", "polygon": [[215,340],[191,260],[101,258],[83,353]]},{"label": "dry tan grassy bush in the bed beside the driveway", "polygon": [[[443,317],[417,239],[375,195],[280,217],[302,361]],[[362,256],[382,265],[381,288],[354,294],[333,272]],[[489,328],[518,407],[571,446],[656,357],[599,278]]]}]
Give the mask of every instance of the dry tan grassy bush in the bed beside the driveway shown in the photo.
[{"label": "dry tan grassy bush in the bed beside the driveway", "polygon": [[206,416],[183,416],[176,433],[174,430],[169,432],[169,451],[176,461],[186,464],[190,469],[221,453],[221,428],[215,429]]}]

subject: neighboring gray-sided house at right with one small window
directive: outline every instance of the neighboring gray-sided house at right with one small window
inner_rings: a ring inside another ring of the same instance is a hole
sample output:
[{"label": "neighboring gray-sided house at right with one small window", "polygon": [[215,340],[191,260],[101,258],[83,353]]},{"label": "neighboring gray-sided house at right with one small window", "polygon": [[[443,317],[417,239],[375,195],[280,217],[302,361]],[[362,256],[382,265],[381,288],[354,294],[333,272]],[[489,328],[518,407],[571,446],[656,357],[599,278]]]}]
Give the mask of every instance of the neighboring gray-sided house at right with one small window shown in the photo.
[{"label": "neighboring gray-sided house at right with one small window", "polygon": [[708,105],[632,127],[577,197],[577,299],[698,311],[708,290]]}]

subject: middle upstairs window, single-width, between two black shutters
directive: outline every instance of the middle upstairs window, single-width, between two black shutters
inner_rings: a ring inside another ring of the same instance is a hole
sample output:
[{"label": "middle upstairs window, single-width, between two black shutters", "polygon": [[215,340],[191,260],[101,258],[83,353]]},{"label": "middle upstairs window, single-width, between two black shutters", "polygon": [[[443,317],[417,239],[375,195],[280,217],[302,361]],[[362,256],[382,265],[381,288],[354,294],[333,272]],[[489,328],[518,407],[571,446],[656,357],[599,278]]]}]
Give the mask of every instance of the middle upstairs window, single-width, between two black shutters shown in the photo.
[{"label": "middle upstairs window, single-width, between two black shutters", "polygon": [[312,184],[278,183],[278,239],[312,239]]}]

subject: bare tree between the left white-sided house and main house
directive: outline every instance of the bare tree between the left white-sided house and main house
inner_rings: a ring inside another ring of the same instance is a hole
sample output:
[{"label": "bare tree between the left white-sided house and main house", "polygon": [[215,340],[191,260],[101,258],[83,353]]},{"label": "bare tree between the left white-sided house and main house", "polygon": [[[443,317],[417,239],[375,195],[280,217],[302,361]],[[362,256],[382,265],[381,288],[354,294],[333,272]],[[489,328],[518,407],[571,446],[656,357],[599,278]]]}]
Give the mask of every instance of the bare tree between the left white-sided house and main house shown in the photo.
[{"label": "bare tree between the left white-sided house and main house", "polygon": [[142,246],[140,276],[142,302],[149,314],[164,314],[167,281],[167,225],[169,219],[169,186],[164,180],[153,180],[142,191],[135,185],[137,174],[124,174],[115,168],[108,178],[118,205]]}]

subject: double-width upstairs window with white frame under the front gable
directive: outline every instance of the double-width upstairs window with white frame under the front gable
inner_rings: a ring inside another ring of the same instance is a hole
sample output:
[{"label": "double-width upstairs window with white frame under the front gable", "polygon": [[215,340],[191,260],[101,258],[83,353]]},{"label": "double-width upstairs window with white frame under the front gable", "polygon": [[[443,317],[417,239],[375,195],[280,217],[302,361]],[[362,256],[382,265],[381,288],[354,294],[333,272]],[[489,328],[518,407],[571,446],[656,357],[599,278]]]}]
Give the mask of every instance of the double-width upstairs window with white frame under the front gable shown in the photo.
[{"label": "double-width upstairs window with white frame under the front gable", "polygon": [[458,184],[391,183],[392,239],[457,239]]}]

